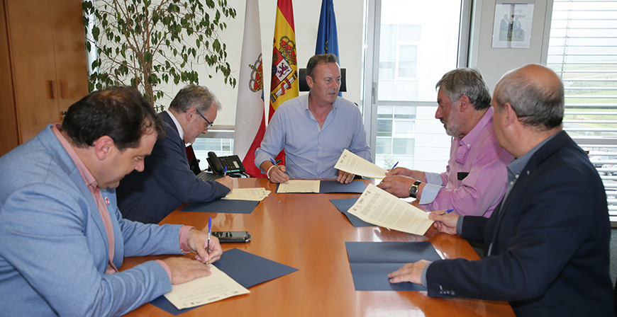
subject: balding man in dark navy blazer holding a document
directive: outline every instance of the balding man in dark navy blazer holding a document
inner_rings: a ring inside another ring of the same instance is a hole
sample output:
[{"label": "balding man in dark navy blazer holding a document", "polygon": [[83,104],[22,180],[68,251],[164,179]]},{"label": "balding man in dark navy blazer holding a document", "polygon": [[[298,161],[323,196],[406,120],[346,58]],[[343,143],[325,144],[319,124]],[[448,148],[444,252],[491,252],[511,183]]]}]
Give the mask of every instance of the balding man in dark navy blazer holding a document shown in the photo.
[{"label": "balding man in dark navy blazer holding a document", "polygon": [[428,296],[509,301],[517,316],[615,316],[604,185],[562,131],[563,91],[540,65],[504,75],[492,100],[499,144],[516,158],[504,199],[489,219],[429,216],[438,231],[483,242],[486,258],[421,260],[390,282],[423,284]]}]

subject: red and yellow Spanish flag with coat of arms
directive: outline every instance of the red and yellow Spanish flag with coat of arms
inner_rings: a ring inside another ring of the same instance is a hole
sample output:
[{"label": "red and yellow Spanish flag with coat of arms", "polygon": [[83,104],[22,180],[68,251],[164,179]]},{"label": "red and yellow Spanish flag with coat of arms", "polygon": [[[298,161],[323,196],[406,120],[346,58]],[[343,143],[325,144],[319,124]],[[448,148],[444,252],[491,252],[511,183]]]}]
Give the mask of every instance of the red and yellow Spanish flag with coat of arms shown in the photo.
[{"label": "red and yellow Spanish flag with coat of arms", "polygon": [[272,83],[268,119],[285,101],[298,96],[298,64],[296,63],[296,31],[291,0],[278,0],[272,50]]}]

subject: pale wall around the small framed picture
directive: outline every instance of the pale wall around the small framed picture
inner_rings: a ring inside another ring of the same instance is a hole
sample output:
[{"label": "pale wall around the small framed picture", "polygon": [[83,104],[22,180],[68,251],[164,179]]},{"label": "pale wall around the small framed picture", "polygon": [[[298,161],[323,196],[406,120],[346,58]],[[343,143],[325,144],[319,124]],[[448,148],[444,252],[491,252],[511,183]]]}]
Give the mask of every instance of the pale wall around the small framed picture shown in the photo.
[{"label": "pale wall around the small framed picture", "polygon": [[526,64],[543,62],[542,52],[550,35],[550,23],[545,21],[546,19],[550,21],[552,12],[552,0],[535,0],[529,48],[493,48],[491,46],[495,4],[495,0],[477,0],[474,14],[479,18],[474,20],[472,52],[469,55],[469,67],[479,69],[491,92],[506,71]]}]

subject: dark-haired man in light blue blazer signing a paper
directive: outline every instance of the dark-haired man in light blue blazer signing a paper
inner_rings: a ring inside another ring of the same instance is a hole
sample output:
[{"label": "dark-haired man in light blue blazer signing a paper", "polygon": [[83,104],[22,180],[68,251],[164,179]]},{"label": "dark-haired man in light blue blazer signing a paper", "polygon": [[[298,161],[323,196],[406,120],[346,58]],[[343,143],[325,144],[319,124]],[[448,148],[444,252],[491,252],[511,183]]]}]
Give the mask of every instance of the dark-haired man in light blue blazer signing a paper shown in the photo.
[{"label": "dark-haired man in light blue blazer signing a paper", "polygon": [[[96,91],[0,158],[2,316],[120,316],[210,275],[218,240],[122,218],[118,183],[165,130],[133,88]],[[206,250],[209,250],[208,253]],[[118,272],[125,256],[196,253]]]}]

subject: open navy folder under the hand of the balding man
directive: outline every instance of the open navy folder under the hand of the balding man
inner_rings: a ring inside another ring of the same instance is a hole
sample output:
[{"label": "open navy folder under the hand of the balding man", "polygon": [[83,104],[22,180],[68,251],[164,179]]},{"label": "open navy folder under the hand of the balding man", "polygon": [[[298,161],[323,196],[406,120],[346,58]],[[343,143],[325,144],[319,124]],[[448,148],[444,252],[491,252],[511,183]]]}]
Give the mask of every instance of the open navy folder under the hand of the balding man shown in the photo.
[{"label": "open navy folder under the hand of the balding man", "polygon": [[441,260],[430,242],[345,242],[356,291],[426,291],[409,282],[391,284],[388,274],[418,260]]}]

